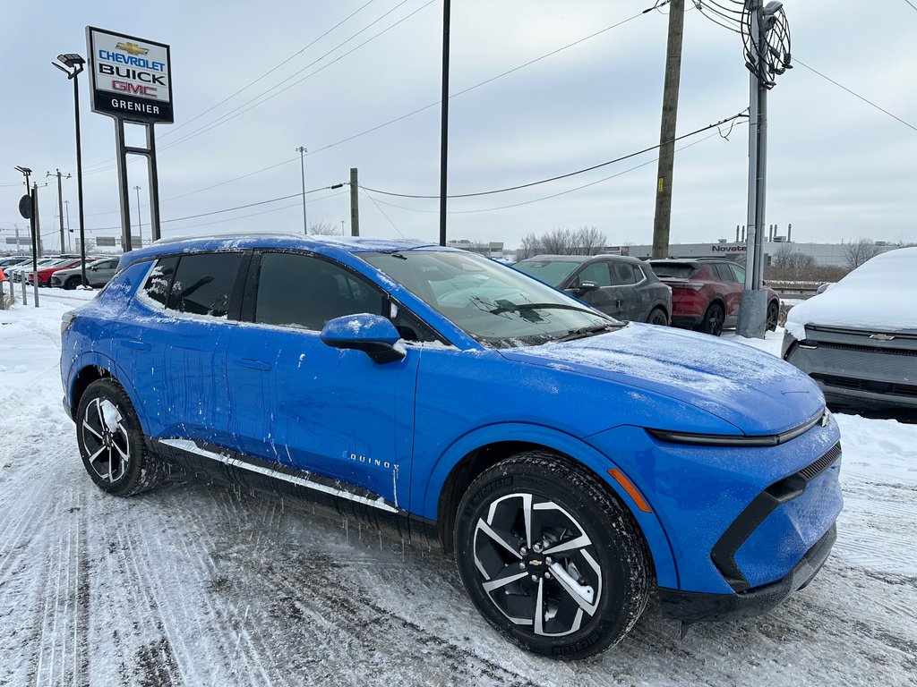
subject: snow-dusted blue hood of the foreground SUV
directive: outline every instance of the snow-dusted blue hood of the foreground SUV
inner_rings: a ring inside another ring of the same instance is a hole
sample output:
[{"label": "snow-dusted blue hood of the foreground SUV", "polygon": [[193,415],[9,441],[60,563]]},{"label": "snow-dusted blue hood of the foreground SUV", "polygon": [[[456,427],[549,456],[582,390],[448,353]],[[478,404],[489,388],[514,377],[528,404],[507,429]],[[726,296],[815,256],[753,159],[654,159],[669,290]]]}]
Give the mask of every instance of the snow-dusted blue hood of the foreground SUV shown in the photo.
[{"label": "snow-dusted blue hood of the foreground SUV", "polygon": [[[631,323],[612,333],[501,353],[675,398],[746,434],[787,431],[824,408],[821,390],[797,368],[708,334]],[[660,418],[657,429],[665,429],[665,421]]]}]

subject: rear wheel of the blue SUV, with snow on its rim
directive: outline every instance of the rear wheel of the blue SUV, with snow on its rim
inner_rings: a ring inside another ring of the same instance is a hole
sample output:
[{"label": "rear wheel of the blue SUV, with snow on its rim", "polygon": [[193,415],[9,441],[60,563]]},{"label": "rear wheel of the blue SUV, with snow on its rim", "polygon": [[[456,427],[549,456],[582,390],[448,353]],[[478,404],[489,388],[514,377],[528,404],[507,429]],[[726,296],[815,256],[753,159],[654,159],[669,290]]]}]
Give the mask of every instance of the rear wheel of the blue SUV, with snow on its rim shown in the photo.
[{"label": "rear wheel of the blue SUV, with snow on its rim", "polygon": [[83,466],[106,493],[134,496],[169,476],[168,466],[147,453],[137,413],[113,379],[86,387],[75,417]]}]

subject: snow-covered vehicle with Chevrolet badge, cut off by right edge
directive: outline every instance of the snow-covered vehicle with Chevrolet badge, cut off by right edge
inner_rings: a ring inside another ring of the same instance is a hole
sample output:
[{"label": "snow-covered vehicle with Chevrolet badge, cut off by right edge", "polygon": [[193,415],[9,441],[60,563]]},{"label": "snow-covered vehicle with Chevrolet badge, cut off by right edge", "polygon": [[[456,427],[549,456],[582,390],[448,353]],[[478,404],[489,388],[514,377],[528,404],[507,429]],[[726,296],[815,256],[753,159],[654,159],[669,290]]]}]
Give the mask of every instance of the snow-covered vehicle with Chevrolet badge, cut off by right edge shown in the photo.
[{"label": "snow-covered vehicle with Chevrolet badge, cut off by right edge", "polygon": [[793,306],[783,359],[818,382],[829,402],[917,409],[917,248],[868,260]]}]

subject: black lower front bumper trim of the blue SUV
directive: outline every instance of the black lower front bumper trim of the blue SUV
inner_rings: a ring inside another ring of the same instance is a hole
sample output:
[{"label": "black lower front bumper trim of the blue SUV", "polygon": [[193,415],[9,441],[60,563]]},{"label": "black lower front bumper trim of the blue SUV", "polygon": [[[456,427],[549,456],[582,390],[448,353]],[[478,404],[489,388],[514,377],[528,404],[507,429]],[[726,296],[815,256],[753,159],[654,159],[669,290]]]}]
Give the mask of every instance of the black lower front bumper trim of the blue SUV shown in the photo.
[{"label": "black lower front bumper trim of the blue SUV", "polygon": [[785,577],[737,594],[703,594],[660,587],[660,610],[668,617],[689,622],[738,620],[766,613],[812,582],[836,539],[837,527],[832,525]]}]

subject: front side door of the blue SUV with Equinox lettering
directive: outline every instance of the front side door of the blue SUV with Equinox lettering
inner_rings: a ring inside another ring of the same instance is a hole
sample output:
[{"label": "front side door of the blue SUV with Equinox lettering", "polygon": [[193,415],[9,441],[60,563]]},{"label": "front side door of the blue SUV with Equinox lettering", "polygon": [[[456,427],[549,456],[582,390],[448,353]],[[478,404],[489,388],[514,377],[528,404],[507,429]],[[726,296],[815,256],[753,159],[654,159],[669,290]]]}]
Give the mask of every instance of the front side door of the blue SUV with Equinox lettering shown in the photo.
[{"label": "front side door of the blue SUV with Equinox lettering", "polygon": [[322,343],[328,320],[383,314],[387,295],[320,256],[265,251],[249,273],[227,381],[238,450],[407,507],[420,350],[377,365]]}]

